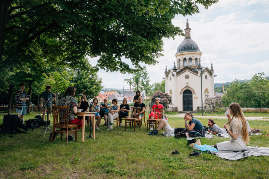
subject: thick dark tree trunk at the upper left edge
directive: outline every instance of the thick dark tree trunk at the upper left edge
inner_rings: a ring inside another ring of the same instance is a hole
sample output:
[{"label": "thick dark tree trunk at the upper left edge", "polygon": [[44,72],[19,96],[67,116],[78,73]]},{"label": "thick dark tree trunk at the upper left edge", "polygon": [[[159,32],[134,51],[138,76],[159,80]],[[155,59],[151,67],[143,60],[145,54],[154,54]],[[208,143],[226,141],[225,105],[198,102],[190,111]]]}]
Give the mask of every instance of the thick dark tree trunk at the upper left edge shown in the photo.
[{"label": "thick dark tree trunk at the upper left edge", "polygon": [[9,16],[8,7],[10,7],[11,2],[11,0],[0,1],[0,60],[4,51],[4,32]]}]

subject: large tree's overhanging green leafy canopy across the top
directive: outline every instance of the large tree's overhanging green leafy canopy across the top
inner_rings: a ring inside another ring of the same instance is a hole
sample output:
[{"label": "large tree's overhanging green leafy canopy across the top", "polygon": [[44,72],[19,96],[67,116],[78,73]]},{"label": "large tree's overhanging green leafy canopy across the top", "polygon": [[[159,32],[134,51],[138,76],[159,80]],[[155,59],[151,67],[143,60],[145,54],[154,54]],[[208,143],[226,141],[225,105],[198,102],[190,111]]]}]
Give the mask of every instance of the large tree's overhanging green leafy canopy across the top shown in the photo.
[{"label": "large tree's overhanging green leafy canopy across the top", "polygon": [[[98,67],[133,72],[122,60],[155,64],[162,38],[184,35],[175,15],[198,13],[217,0],[2,0],[0,67],[33,63],[39,54],[58,64],[99,56]],[[44,59],[44,58],[40,58]]]}]

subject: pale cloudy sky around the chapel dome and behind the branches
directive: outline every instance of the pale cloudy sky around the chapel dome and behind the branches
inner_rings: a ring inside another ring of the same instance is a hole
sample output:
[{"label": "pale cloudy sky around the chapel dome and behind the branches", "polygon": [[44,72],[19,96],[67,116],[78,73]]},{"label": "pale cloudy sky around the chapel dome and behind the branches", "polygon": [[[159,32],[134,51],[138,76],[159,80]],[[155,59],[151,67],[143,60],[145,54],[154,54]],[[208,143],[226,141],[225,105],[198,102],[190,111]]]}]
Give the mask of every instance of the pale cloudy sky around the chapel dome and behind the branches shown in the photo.
[{"label": "pale cloudy sky around the chapel dome and behind the branches", "polygon": [[[251,79],[258,72],[269,75],[269,0],[219,0],[207,10],[199,9],[200,13],[192,16],[176,16],[172,23],[184,30],[188,18],[191,38],[203,53],[201,65],[210,69],[213,63],[215,83]],[[173,67],[183,40],[182,36],[163,39],[164,56],[155,66],[146,66],[151,84],[162,81],[166,65]],[[96,65],[97,58],[89,60]],[[131,74],[104,70],[98,74],[104,87],[129,89],[123,80],[132,78]]]}]

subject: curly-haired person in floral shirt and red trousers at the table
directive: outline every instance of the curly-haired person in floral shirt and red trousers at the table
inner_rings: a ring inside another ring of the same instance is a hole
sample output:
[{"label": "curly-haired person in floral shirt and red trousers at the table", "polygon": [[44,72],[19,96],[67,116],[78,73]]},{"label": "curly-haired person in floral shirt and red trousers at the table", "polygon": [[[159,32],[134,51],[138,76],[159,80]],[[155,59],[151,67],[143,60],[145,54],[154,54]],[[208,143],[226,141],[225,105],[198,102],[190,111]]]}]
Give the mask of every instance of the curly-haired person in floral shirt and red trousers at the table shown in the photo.
[{"label": "curly-haired person in floral shirt and red trousers at the table", "polygon": [[[75,115],[77,113],[77,100],[74,98],[74,95],[76,93],[76,88],[75,87],[68,87],[65,90],[65,96],[62,97],[59,101],[59,106],[69,106],[69,113],[68,113],[68,123],[69,124],[77,124],[77,128],[81,129],[82,127],[82,120],[75,118]],[[66,119],[67,120],[67,119]],[[74,141],[75,139],[73,138],[73,135],[75,134],[75,132],[71,132],[68,135],[68,141]],[[50,135],[50,139],[52,136],[52,132]],[[54,135],[54,139],[55,140],[55,136]]]}]

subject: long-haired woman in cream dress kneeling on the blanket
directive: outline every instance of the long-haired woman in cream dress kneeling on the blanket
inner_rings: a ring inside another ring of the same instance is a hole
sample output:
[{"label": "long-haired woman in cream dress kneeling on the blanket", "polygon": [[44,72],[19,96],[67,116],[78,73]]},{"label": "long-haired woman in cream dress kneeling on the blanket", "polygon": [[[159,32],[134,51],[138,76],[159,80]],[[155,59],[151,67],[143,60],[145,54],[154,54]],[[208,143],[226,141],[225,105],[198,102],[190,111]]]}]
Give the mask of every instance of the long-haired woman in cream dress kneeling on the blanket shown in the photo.
[{"label": "long-haired woman in cream dress kneeling on the blanket", "polygon": [[[217,143],[214,147],[218,150],[242,151],[246,148],[246,145],[249,142],[247,122],[238,103],[230,104],[229,108],[234,120],[230,123],[230,127],[227,124],[224,124],[224,129],[226,129],[231,136],[230,141]],[[230,114],[228,114],[227,117],[228,121],[230,121]]]}]

